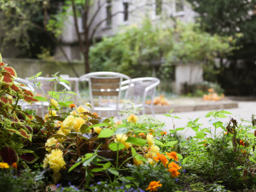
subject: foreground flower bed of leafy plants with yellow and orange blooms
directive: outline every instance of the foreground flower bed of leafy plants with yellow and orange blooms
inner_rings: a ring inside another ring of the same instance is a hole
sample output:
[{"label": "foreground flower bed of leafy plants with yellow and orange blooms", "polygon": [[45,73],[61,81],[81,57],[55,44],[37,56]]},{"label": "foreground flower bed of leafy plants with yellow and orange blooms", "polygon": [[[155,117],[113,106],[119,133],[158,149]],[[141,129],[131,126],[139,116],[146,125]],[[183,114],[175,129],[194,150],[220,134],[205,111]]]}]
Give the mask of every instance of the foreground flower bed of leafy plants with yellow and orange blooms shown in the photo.
[{"label": "foreground flower bed of leafy plants with yellow and orange blooms", "polygon": [[[198,118],[182,128],[175,126],[179,117],[172,110],[165,114],[168,125],[134,113],[102,119],[90,103],[75,106],[61,96],[66,91],[33,97],[15,84],[14,72],[1,63],[1,190],[255,189],[255,116],[236,120],[227,111],[213,111],[207,113],[209,125]],[[48,101],[49,113],[39,117],[24,111],[20,99]],[[230,121],[225,123],[221,119],[227,115]],[[191,130],[195,136],[187,137]]]}]

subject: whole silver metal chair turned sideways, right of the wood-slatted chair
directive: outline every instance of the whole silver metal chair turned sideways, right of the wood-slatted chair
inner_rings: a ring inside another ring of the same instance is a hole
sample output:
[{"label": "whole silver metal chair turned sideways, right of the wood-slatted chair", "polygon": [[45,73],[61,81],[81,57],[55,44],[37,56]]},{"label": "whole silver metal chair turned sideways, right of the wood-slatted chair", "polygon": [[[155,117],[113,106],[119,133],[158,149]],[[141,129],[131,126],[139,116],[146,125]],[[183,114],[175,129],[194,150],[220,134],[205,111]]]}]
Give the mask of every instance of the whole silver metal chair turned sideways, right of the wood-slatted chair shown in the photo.
[{"label": "whole silver metal chair turned sideways, right of the wood-slatted chair", "polygon": [[[128,89],[127,84],[129,82],[124,81],[122,83],[122,90],[127,90],[128,99],[134,103],[135,108],[142,108],[143,114],[145,114],[146,108],[151,109],[151,113],[154,116],[154,95],[155,88],[160,84],[160,79],[152,77],[144,77],[131,79],[131,88]],[[150,103],[147,104],[146,100],[149,99]],[[128,106],[129,108],[129,106]]]}]

